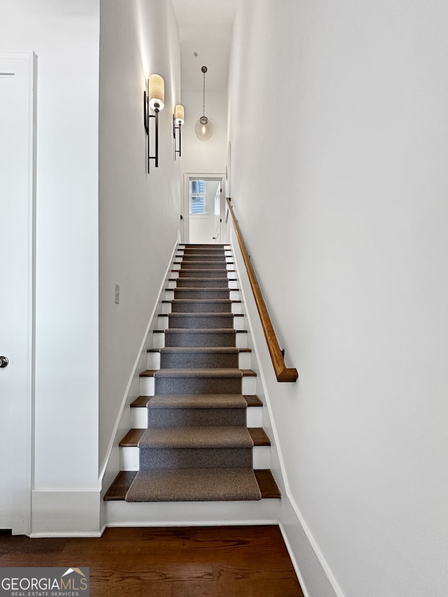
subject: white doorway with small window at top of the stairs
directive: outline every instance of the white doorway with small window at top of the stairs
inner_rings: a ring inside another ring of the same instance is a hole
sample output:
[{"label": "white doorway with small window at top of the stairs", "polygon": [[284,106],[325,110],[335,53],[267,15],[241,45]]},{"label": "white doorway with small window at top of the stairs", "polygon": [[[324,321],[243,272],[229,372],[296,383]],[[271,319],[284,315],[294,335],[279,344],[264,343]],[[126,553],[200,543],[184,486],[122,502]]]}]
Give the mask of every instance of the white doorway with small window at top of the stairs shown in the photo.
[{"label": "white doorway with small window at top of the stairs", "polygon": [[223,174],[186,174],[183,242],[223,243]]}]

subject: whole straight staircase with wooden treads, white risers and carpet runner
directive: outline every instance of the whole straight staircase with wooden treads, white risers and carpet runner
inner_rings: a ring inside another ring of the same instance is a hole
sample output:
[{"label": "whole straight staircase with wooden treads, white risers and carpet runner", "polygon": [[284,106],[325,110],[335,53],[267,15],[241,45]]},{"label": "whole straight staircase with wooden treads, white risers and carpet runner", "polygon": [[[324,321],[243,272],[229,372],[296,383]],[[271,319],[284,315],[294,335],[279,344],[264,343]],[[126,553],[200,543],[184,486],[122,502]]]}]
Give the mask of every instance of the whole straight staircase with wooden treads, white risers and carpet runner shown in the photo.
[{"label": "whole straight staircase with wooden treads, white risers and carpet runner", "polygon": [[230,246],[179,246],[168,286],[104,500],[278,499]]}]

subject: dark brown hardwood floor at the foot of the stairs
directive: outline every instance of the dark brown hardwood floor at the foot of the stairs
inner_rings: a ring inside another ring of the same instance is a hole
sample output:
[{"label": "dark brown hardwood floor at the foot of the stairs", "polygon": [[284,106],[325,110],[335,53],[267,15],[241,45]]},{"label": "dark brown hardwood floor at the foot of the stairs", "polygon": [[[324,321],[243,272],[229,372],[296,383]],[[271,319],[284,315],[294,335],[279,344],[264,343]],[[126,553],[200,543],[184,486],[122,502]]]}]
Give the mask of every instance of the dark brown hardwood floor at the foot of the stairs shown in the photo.
[{"label": "dark brown hardwood floor at the foot of the stairs", "polygon": [[0,533],[0,566],[90,567],[92,597],[303,597],[278,526],[107,528],[99,539]]}]

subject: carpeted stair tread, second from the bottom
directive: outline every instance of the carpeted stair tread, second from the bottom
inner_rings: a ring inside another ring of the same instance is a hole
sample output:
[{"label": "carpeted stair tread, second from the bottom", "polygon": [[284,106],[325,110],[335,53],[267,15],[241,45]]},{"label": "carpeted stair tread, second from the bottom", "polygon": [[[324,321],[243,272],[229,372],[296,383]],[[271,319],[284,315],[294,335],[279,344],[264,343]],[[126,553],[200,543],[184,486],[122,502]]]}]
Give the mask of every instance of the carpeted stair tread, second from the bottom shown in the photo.
[{"label": "carpeted stair tread, second from the bottom", "polygon": [[253,440],[246,427],[149,428],[138,445],[140,449],[252,448]]}]

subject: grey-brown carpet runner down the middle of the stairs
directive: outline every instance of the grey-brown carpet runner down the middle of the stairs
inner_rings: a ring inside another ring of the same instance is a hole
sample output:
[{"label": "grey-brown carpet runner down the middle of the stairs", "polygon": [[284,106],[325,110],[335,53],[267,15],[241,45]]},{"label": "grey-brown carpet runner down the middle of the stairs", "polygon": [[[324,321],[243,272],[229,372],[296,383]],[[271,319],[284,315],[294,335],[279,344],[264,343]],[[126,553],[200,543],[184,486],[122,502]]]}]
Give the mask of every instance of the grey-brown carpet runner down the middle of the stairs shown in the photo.
[{"label": "grey-brown carpet runner down the middle of the stairs", "polygon": [[260,500],[223,246],[187,246],[126,500]]}]

